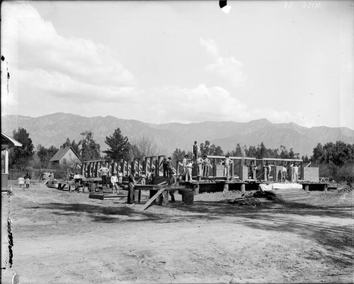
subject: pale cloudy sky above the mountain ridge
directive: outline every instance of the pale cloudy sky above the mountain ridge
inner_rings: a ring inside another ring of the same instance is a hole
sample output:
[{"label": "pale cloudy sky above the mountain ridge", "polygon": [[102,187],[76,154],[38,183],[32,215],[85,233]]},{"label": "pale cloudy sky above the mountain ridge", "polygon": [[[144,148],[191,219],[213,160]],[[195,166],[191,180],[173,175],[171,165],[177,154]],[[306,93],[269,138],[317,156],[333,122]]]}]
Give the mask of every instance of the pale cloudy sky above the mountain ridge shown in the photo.
[{"label": "pale cloudy sky above the mountain ridge", "polygon": [[3,1],[1,115],[354,129],[354,1],[227,3]]}]

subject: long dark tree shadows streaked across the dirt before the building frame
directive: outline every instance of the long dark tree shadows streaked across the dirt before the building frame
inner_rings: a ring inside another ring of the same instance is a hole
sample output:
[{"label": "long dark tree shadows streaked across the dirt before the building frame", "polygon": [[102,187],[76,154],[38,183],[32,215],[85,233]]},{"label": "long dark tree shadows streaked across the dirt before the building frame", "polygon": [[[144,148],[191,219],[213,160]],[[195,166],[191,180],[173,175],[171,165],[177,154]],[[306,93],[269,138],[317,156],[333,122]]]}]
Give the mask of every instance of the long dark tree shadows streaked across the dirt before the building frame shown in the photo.
[{"label": "long dark tree shadows streaked across the dirt before the building frame", "polygon": [[[118,206],[107,204],[82,203],[47,203],[42,209],[53,215],[81,216],[83,213],[93,222],[125,223],[125,222],[200,222],[222,220],[229,218],[228,222],[243,222],[243,225],[253,229],[273,232],[290,232],[298,234],[321,244],[329,252],[332,261],[350,265],[353,261],[353,227],[339,225],[339,220],[353,219],[353,206],[324,207],[306,203],[272,203],[268,202],[256,208],[247,205],[240,206],[225,202],[196,201],[194,205],[185,206],[181,203],[169,203],[168,206],[153,205],[152,208],[142,210],[142,205],[130,207],[120,204]],[[33,209],[38,206],[31,207]],[[120,218],[121,217],[121,218]],[[300,218],[299,218],[300,217]],[[301,217],[321,217],[323,221],[302,221]],[[338,222],[326,222],[327,218],[337,218]],[[246,220],[246,221],[245,221]],[[318,251],[318,254],[321,254]]]}]

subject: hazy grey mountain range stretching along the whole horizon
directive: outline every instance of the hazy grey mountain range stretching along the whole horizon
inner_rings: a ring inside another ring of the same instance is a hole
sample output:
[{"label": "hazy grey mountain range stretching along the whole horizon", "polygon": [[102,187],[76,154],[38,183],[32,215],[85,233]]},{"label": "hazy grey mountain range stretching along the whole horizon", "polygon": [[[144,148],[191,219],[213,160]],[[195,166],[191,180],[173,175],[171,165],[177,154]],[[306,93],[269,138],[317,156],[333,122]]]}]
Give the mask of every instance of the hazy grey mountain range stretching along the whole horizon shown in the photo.
[{"label": "hazy grey mountain range stretching along the whole horizon", "polygon": [[125,120],[113,116],[96,116],[87,118],[70,113],[54,113],[31,118],[22,115],[4,115],[1,117],[1,131],[12,136],[13,130],[23,127],[38,144],[59,147],[67,137],[79,142],[81,132],[90,130],[93,139],[101,145],[101,150],[107,149],[104,140],[120,127],[122,135],[130,142],[139,137],[149,137],[158,145],[160,154],[171,154],[174,149],[191,150],[193,142],[198,144],[210,141],[219,145],[224,152],[232,151],[236,144],[241,146],[257,146],[263,142],[267,148],[279,148],[284,145],[288,150],[301,155],[312,155],[317,143],[343,141],[354,144],[354,130],[348,127],[302,127],[295,123],[270,123],[269,120],[252,120],[249,123],[213,122],[203,123],[164,123],[151,124],[139,120]]}]

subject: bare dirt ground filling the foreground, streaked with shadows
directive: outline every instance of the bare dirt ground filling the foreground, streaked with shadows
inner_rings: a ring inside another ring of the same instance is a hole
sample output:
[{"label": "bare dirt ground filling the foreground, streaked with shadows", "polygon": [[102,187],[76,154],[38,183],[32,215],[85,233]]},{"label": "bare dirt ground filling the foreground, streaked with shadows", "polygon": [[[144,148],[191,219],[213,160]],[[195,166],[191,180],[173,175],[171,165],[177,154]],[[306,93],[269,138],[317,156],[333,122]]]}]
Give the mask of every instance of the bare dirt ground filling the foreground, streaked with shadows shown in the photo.
[{"label": "bare dirt ground filling the foreground, streaked with shadows", "polygon": [[[144,193],[143,200],[147,200]],[[10,210],[11,283],[353,283],[353,191],[310,192],[250,208],[239,192],[181,195],[167,207],[89,199],[32,185],[1,195]]]}]

